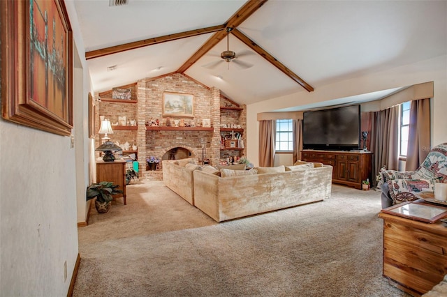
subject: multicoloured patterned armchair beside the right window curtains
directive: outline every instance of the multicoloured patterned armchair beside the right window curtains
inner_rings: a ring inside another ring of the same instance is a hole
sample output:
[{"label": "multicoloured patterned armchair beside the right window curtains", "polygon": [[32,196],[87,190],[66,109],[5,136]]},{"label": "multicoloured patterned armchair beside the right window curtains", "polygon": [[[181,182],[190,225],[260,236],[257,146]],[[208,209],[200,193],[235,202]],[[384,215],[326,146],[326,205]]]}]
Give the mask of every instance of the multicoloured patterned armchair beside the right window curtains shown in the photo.
[{"label": "multicoloured patterned armchair beside the right window curtains", "polygon": [[418,199],[423,192],[433,192],[434,183],[447,183],[447,143],[434,146],[415,172],[381,172],[382,208]]}]

